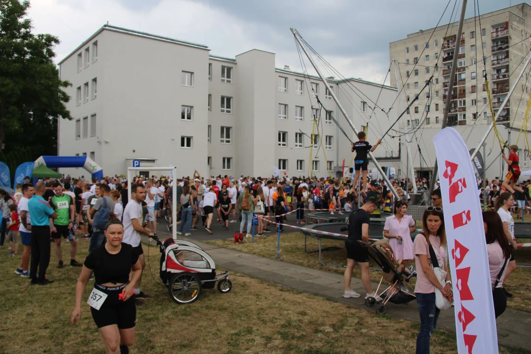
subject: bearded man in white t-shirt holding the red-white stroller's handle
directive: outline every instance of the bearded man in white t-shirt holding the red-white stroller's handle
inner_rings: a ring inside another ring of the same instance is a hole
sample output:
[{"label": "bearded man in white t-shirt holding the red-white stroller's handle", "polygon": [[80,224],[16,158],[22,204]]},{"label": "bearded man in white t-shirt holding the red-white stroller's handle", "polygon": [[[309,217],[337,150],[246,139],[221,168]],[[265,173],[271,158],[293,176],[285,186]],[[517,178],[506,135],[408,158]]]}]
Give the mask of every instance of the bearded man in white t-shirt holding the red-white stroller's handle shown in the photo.
[{"label": "bearded man in white t-shirt holding the red-white stroller's handle", "polygon": [[[134,184],[131,186],[131,200],[127,203],[123,214],[124,237],[123,243],[133,246],[133,252],[136,252],[139,257],[142,270],[145,267],[144,251],[140,244],[140,234],[153,236],[153,232],[147,228],[142,227],[142,202],[146,199],[145,187],[142,184]],[[145,295],[140,291],[140,281],[142,276],[136,282],[133,289],[133,297],[136,305],[143,305],[143,299],[148,299],[150,296]]]}]

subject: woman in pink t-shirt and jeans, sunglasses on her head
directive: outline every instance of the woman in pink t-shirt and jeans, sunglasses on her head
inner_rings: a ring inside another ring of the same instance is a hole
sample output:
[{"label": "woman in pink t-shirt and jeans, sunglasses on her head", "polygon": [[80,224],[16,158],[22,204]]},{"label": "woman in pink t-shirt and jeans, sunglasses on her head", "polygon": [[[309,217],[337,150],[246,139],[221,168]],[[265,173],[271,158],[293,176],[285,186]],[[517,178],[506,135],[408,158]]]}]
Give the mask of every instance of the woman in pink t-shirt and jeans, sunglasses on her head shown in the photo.
[{"label": "woman in pink t-shirt and jeans, sunglasses on her head", "polygon": [[[438,266],[447,272],[446,284],[441,285],[433,272],[430,247],[433,248]],[[416,354],[430,353],[430,337],[437,326],[440,310],[435,306],[435,288],[442,295],[452,301],[452,282],[448,269],[448,255],[446,252],[446,232],[444,231],[444,217],[442,208],[429,206],[422,215],[422,232],[415,237],[413,243],[415,251],[415,267],[417,282],[415,296],[417,297],[418,314],[421,318],[421,329],[417,335]]]}]

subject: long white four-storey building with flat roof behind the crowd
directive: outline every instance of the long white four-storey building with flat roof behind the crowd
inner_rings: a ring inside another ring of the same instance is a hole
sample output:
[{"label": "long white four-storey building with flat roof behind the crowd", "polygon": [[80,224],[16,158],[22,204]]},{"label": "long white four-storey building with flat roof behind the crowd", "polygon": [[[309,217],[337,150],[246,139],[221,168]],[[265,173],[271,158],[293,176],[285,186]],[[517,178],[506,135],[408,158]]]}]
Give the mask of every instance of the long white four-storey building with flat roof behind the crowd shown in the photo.
[{"label": "long white four-storey building with flat roof behind the crowd", "polygon": [[[204,45],[104,25],[60,63],[73,120],[58,124],[58,155],[87,154],[104,175],[125,174],[141,160],[177,166],[179,175],[335,176],[348,167],[350,142],[331,114],[356,141],[319,77],[275,67],[275,54],[252,49],[235,58],[209,53]],[[361,79],[328,79],[361,130],[369,123],[375,143],[398,117],[388,110],[397,90]],[[321,111],[312,87],[329,113]],[[372,108],[376,108],[374,113]],[[311,149],[313,134],[315,148]],[[384,167],[404,169],[399,140],[375,151]],[[354,163],[353,165],[354,166]],[[373,167],[372,163],[370,164]],[[61,168],[64,174],[86,175]]]}]

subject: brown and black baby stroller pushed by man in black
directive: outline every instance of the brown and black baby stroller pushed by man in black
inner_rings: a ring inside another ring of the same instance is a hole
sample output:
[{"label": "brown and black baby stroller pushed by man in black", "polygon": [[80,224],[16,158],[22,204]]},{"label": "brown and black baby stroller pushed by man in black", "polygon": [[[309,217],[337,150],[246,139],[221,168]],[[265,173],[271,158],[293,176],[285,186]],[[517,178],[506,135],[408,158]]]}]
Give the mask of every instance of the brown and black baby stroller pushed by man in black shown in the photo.
[{"label": "brown and black baby stroller pushed by man in black", "polygon": [[[378,289],[375,291],[375,297],[367,298],[365,305],[373,307],[376,302],[379,302],[376,301],[376,298],[382,298],[381,304],[376,307],[376,313],[383,315],[387,311],[386,304],[389,301],[393,304],[406,304],[414,300],[414,289],[408,283],[412,273],[401,260],[395,259],[389,242],[386,239],[378,240],[373,244],[364,241],[358,242],[367,247],[369,256],[378,263],[383,272]],[[388,282],[389,287],[378,293],[384,280]]]}]

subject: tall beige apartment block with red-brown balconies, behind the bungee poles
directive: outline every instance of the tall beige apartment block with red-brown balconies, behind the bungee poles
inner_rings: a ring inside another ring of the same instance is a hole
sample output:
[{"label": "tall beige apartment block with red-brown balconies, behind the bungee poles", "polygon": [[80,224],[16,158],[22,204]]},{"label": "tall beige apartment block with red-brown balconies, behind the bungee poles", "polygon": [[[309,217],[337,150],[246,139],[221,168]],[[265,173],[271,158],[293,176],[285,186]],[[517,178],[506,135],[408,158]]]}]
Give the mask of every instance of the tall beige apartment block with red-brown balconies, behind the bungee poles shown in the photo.
[{"label": "tall beige apartment block with red-brown balconies, behind the bungee poles", "polygon": [[[529,55],[531,6],[520,4],[483,14],[479,19],[466,19],[459,45],[456,44],[457,27],[458,22],[450,25],[441,24],[438,28],[420,30],[389,44],[391,63],[397,61],[400,77],[397,82],[395,65],[391,65],[391,86],[398,88],[404,86],[404,90],[400,93],[404,106],[409,105],[426,80],[433,75],[431,97],[426,96],[428,90],[422,92],[406,116],[408,130],[416,131],[415,139],[421,140],[419,145],[424,159],[418,153],[414,153],[413,157],[413,167],[417,175],[420,175],[421,164],[424,169],[433,168],[435,162],[433,136],[441,129],[444,105],[448,98],[451,102],[447,126],[456,128],[463,135],[469,149],[476,148],[481,141],[493,118],[483,77],[483,57],[492,94],[492,106],[496,114],[509,88],[518,81],[517,76]],[[458,55],[458,68],[453,90],[449,94],[448,85],[454,55]],[[496,122],[509,144],[516,143],[530,92],[531,78],[527,72],[518,82],[508,105]],[[525,126],[524,129],[529,129],[529,126]],[[404,131],[402,122],[400,130]],[[415,139],[412,150],[417,149]],[[520,137],[518,145],[521,149],[520,165],[526,169],[531,168],[531,163],[527,157],[528,152],[523,151],[524,140],[524,136]],[[486,154],[489,154],[492,142],[493,133],[486,140]],[[501,177],[507,173],[501,171],[501,161],[498,162],[499,150],[496,141],[490,156],[483,156],[486,160],[485,166],[496,161],[492,169],[486,172],[487,178]],[[483,151],[480,152],[483,154]],[[504,171],[506,169],[507,166],[504,167]],[[429,175],[425,171],[423,176]]]}]

